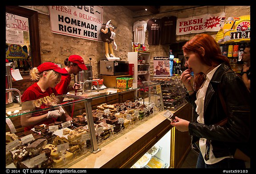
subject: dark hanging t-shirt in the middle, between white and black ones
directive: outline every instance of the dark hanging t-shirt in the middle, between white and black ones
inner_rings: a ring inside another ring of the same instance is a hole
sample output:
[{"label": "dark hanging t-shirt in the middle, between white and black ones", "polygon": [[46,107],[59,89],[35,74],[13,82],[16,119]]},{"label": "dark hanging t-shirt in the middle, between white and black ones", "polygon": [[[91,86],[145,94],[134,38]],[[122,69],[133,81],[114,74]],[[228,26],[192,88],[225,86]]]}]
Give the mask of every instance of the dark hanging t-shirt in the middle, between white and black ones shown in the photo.
[{"label": "dark hanging t-shirt in the middle, between white and black ones", "polygon": [[148,44],[158,45],[160,41],[161,19],[149,19],[147,23]]}]

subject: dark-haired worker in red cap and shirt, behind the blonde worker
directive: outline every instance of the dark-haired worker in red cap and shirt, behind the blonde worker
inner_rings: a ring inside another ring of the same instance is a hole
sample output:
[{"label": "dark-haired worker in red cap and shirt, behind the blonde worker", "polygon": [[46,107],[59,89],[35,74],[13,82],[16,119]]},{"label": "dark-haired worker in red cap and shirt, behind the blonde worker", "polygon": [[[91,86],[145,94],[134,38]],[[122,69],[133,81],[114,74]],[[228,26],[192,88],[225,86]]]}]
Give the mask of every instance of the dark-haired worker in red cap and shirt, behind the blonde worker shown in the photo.
[{"label": "dark-haired worker in red cap and shirt, behind the blonde worker", "polygon": [[[56,85],[55,89],[57,90],[58,95],[63,95],[69,92],[68,86],[71,81],[71,74],[77,75],[82,70],[88,70],[84,64],[84,59],[79,55],[69,56],[65,59],[64,64],[66,67],[62,70],[68,73],[68,75],[61,76],[60,83]],[[75,83],[73,89],[80,89],[80,84]]]}]

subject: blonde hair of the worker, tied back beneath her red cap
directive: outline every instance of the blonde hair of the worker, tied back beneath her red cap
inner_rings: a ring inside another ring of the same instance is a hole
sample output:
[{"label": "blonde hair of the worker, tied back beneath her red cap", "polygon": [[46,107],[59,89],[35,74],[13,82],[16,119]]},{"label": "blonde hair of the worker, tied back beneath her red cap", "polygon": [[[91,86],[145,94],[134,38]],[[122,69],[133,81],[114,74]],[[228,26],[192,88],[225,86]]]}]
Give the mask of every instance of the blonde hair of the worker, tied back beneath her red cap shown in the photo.
[{"label": "blonde hair of the worker, tied back beneath her red cap", "polygon": [[[48,81],[49,79],[57,79],[59,77],[61,77],[61,73],[57,73],[56,71],[54,70],[48,70],[46,71],[48,73],[47,77],[46,77],[46,80]],[[32,81],[39,81],[39,79],[41,77],[43,77],[43,73],[40,73],[39,70],[35,67],[33,68],[32,70],[30,70],[30,76],[31,76],[31,80]]]}]

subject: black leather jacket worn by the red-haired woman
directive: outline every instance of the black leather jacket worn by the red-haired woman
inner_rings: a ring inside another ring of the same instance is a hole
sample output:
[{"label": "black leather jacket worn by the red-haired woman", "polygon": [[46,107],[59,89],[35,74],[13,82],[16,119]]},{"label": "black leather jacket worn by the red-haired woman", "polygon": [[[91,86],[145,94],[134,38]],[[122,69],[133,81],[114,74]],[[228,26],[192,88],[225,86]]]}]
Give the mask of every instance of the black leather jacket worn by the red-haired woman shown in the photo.
[{"label": "black leather jacket worn by the red-haired woman", "polygon": [[[225,73],[228,70],[230,68],[222,63],[208,85],[204,100],[204,124],[190,122],[188,125],[189,134],[193,135],[192,142],[199,138],[212,140],[212,152],[216,158],[234,155],[236,147],[250,138],[250,93],[241,77],[235,72]],[[220,102],[219,91],[224,98],[228,116]],[[196,108],[196,93],[185,99]],[[226,124],[218,125],[227,117]]]}]

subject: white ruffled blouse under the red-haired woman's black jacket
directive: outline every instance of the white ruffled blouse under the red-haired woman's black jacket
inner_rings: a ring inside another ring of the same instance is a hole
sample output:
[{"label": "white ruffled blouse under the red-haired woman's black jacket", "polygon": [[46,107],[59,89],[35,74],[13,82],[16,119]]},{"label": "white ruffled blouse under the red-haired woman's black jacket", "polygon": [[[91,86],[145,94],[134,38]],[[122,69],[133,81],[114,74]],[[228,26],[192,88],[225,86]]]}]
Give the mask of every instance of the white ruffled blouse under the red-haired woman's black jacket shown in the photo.
[{"label": "white ruffled blouse under the red-haired woman's black jacket", "polygon": [[[206,90],[208,88],[209,82],[212,79],[213,74],[215,73],[215,71],[218,69],[219,66],[217,66],[212,71],[210,71],[208,74],[206,74],[206,80],[203,84],[203,87],[200,88],[196,93],[195,103],[196,103],[196,112],[199,115],[197,117],[197,122],[198,123],[204,124],[204,98],[205,98]],[[203,158],[204,158],[205,150],[206,150],[206,139],[200,138],[199,147],[200,147],[200,151],[201,151],[201,153],[203,155]],[[219,161],[221,161],[222,159],[225,159],[225,158],[230,158],[230,156],[215,158],[215,156],[212,153],[212,144],[211,144],[210,145],[209,160],[205,161],[205,159],[204,159],[204,162],[206,164],[214,164],[214,163],[219,162]]]}]

